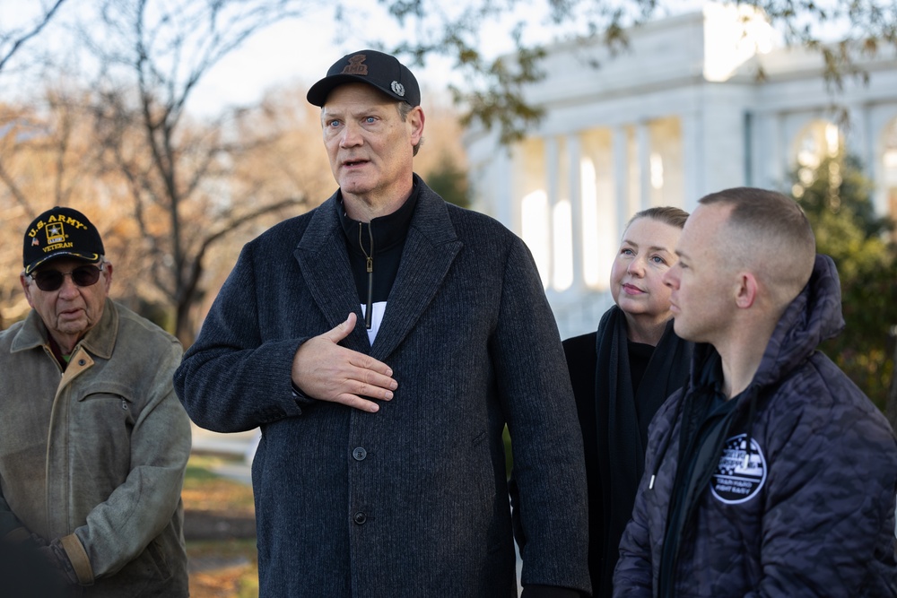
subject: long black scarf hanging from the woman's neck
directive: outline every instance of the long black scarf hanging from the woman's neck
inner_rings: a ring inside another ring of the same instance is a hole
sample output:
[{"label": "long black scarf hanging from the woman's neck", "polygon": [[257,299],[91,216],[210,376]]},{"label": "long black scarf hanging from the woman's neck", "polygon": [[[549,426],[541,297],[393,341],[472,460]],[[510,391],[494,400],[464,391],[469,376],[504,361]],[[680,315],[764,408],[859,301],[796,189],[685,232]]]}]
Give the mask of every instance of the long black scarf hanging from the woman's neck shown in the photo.
[{"label": "long black scarf hanging from the woman's neck", "polygon": [[595,376],[597,456],[605,518],[602,575],[592,580],[596,596],[610,596],[623,529],[645,470],[648,425],[666,398],[684,386],[692,343],[673,332],[673,321],[649,360],[637,394],[632,392],[626,317],[614,306],[605,312],[596,336]]}]

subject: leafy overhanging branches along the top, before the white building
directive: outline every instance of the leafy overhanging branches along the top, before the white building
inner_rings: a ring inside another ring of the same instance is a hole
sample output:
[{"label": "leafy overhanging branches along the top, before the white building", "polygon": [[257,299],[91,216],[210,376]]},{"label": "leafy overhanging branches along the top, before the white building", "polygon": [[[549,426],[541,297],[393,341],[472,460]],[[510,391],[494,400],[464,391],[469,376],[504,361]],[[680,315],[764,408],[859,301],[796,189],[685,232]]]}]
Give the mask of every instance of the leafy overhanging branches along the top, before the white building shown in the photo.
[{"label": "leafy overhanging branches along the top, before the white building", "polygon": [[[338,18],[352,22],[364,17],[334,3]],[[379,0],[408,34],[401,42],[379,39],[390,51],[424,62],[447,57],[462,74],[463,87],[452,86],[465,123],[496,129],[502,142],[520,137],[542,117],[543,110],[527,101],[527,83],[544,78],[547,44],[582,43],[598,39],[612,52],[627,45],[627,28],[663,17],[676,2],[662,0]],[[788,45],[802,46],[822,58],[820,76],[840,88],[846,77],[865,78],[858,56],[897,47],[897,4],[892,0],[736,0],[733,4],[765,13]],[[823,35],[841,32],[840,40],[823,43]],[[516,56],[491,57],[483,40],[507,37]],[[376,44],[378,40],[373,40]],[[758,73],[762,77],[762,73]]]}]

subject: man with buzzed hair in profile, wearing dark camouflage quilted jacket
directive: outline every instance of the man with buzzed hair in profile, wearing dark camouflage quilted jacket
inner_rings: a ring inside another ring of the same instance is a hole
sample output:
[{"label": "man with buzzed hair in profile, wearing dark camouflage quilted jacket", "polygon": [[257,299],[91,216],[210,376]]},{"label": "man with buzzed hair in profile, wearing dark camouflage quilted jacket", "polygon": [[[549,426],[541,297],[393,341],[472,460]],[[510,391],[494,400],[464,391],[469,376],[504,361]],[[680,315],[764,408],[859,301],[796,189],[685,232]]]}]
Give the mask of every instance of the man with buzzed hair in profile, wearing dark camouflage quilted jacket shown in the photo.
[{"label": "man with buzzed hair in profile, wearing dark camouflage quilted jacket", "polygon": [[665,276],[692,372],[652,421],[615,596],[894,596],[897,441],[816,351],[831,258],[784,195],[708,195]]}]

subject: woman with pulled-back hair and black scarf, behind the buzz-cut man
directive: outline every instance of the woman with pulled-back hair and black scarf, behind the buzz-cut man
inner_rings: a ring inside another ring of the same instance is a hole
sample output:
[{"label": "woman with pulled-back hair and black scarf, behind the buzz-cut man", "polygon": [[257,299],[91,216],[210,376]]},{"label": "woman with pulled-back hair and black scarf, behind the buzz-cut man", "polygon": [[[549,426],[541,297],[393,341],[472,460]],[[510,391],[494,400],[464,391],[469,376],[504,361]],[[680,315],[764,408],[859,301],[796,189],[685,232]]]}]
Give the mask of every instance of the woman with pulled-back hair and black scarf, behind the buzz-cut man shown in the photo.
[{"label": "woman with pulled-back hair and black scarf, behind the buzz-cut man", "polygon": [[564,341],[586,455],[589,573],[610,598],[617,547],[644,471],[651,417],[688,376],[692,343],[673,332],[663,275],[688,213],[638,212],[626,225],[611,269],[614,306],[597,332]]}]

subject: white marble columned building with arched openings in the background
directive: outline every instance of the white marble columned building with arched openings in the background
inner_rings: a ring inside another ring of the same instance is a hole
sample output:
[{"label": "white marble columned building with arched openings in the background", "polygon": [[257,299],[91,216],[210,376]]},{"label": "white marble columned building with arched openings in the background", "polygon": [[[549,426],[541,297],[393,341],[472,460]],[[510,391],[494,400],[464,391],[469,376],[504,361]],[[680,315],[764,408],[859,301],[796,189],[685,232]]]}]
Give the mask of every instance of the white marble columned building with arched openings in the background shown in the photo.
[{"label": "white marble columned building with arched openings in the background", "polygon": [[475,207],[527,241],[563,338],[597,327],[623,225],[645,207],[691,211],[732,186],[788,190],[798,165],[846,147],[879,212],[897,213],[893,55],[832,92],[818,56],[777,46],[745,7],[708,3],[629,38],[617,56],[599,43],[553,48],[547,78],[526,92],[544,119],[521,143],[466,134]]}]

